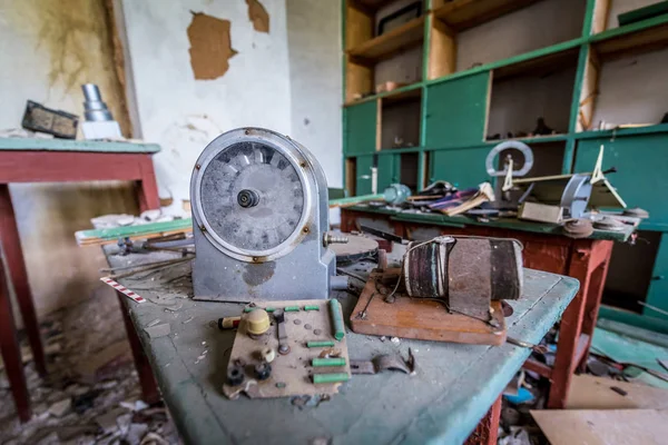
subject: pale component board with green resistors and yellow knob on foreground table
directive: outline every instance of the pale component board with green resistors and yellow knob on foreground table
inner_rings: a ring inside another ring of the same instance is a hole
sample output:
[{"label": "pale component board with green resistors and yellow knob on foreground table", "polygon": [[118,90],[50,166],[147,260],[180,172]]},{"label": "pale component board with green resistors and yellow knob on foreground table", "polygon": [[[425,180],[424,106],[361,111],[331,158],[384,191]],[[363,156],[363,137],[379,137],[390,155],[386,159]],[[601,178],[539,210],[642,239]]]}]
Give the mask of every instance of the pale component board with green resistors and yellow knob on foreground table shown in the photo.
[{"label": "pale component board with green resistors and yellow knob on foreground table", "polygon": [[[294,301],[267,301],[258,304],[258,307],[274,309],[285,308],[288,306],[298,306],[298,312],[285,312],[285,329],[287,333],[289,353],[286,355],[278,354],[278,326],[272,319],[269,330],[257,339],[248,336],[246,333],[245,317],[249,313],[242,316],[239,327],[234,338],[234,346],[229,355],[229,365],[236,360],[242,360],[246,364],[246,368],[255,364],[259,364],[258,353],[264,348],[272,348],[276,352],[276,358],[271,363],[272,374],[266,380],[254,380],[252,374],[246,370],[246,376],[243,385],[249,382],[253,384],[246,386],[245,393],[250,398],[274,398],[287,397],[296,395],[318,395],[318,394],[336,394],[338,393],[340,383],[314,384],[311,379],[313,374],[328,373],[345,373],[351,375],[351,360],[347,352],[347,340],[336,340],[333,334],[332,317],[330,316],[328,300],[311,299],[311,300],[294,300]],[[304,306],[318,306],[318,310],[304,310]],[[272,318],[269,316],[269,318]],[[314,334],[316,329],[320,333]],[[320,356],[320,354],[330,348],[308,348],[306,342],[313,340],[333,340],[340,357],[345,358],[345,366],[314,368],[311,360]],[[240,386],[223,385],[223,392],[229,397],[239,389]],[[233,397],[230,397],[233,398]]]}]

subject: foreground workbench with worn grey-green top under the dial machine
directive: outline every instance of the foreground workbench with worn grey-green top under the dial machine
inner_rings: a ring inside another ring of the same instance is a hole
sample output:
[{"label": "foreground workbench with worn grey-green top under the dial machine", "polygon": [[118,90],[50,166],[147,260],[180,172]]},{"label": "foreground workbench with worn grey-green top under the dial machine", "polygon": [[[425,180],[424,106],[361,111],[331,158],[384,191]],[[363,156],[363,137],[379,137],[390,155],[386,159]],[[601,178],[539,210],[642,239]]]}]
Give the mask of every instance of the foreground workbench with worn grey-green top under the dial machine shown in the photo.
[{"label": "foreground workbench with worn grey-green top under the dial machine", "polygon": [[[115,255],[106,246],[111,267],[141,265],[177,258],[174,253]],[[355,274],[375,267],[357,263]],[[362,269],[362,271],[360,271]],[[317,406],[295,406],[291,398],[229,400],[222,394],[234,330],[219,330],[219,317],[242,314],[244,305],[191,299],[189,263],[118,279],[146,298],[136,303],[119,294],[130,336],[148,357],[165,403],[188,444],[291,443],[379,444],[497,443],[500,394],[520,369],[530,350],[504,344],[499,347],[420,342],[357,335],[350,330],[356,297],[333,293],[344,312],[351,359],[412,349],[416,375],[396,372],[353,375],[340,394]],[[510,301],[514,314],[507,319],[509,335],[538,343],[573,299],[578,281],[554,274],[524,270],[521,299]],[[156,322],[157,320],[157,322]],[[169,325],[169,334],[149,337],[145,328]],[[141,350],[139,352],[141,353]],[[139,370],[143,374],[143,370]],[[485,416],[485,413],[490,413]],[[479,422],[484,418],[479,425]],[[475,433],[471,433],[475,429]]]}]

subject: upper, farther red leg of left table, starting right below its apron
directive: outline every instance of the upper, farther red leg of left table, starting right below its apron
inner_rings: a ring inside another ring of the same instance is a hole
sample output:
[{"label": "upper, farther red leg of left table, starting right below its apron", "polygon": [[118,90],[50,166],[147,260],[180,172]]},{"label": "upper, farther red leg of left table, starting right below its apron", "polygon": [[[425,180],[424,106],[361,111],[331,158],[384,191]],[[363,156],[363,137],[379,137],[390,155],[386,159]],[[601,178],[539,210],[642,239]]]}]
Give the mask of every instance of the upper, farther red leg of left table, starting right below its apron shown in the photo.
[{"label": "upper, farther red leg of left table, starting right below its apron", "polygon": [[28,273],[26,270],[26,261],[23,259],[23,250],[21,249],[21,240],[19,238],[19,229],[17,227],[16,215],[9,195],[9,186],[0,184],[0,243],[4,248],[4,257],[7,267],[9,268],[9,278],[13,285],[23,319],[23,326],[28,334],[28,340],[32,348],[35,358],[35,367],[40,375],[47,374],[45,353],[42,349],[41,337],[39,334],[39,324],[30,285],[28,283]]}]

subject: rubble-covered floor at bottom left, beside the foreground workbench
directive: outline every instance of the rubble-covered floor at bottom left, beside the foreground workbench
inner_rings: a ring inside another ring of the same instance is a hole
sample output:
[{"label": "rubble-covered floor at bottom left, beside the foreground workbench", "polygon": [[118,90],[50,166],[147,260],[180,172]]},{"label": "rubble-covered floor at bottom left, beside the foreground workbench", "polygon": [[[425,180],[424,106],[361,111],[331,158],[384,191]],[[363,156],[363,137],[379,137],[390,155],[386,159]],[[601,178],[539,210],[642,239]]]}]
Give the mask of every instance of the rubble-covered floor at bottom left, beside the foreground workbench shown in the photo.
[{"label": "rubble-covered floor at bottom left, beside the foreground workbench", "polygon": [[49,375],[40,378],[21,338],[32,418],[21,424],[0,362],[1,444],[178,443],[161,405],[141,400],[117,298],[106,288],[42,319]]}]

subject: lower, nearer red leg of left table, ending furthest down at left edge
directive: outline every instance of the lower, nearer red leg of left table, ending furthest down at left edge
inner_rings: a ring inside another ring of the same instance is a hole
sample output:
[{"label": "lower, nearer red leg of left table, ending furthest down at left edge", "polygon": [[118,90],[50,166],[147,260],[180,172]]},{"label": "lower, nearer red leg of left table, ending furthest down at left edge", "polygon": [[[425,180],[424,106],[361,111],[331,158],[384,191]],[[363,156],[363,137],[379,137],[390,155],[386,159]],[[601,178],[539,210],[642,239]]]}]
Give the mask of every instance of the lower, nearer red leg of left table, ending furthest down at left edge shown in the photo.
[{"label": "lower, nearer red leg of left table, ending furthest down at left edge", "polygon": [[14,399],[17,412],[21,422],[28,422],[32,417],[30,411],[30,396],[26,385],[26,375],[23,374],[23,362],[21,359],[21,348],[17,337],[17,326],[9,300],[9,288],[4,277],[4,267],[0,265],[0,349],[2,350],[2,360],[7,370],[7,378],[11,386],[11,394]]}]

